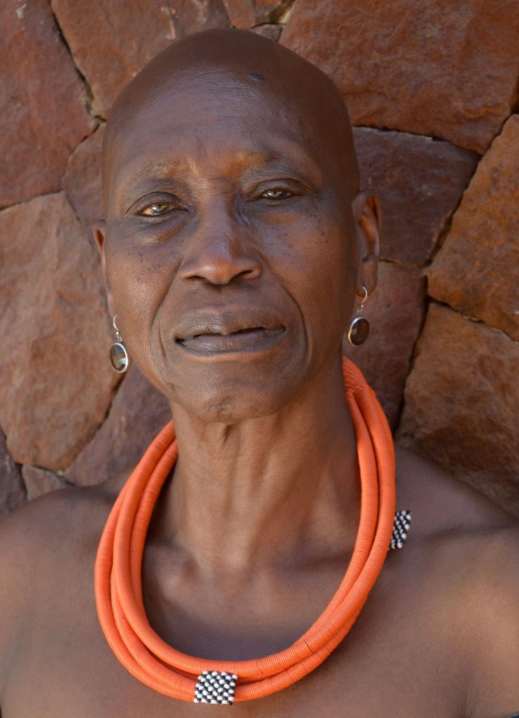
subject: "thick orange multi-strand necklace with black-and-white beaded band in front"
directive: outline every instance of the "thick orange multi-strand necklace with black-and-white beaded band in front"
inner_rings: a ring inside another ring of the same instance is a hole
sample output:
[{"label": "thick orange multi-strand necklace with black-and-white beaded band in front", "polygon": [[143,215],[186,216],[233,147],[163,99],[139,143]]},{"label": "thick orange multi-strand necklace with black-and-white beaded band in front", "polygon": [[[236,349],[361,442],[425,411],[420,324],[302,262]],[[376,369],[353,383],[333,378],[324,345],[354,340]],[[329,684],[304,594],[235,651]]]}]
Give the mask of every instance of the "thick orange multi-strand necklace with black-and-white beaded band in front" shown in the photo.
[{"label": "thick orange multi-strand necklace with black-and-white beaded band in front", "polygon": [[146,686],[195,703],[262,698],[317,668],[355,623],[388,555],[395,514],[395,454],[375,393],[350,360],[343,358],[342,372],[362,485],[355,548],[322,615],[293,645],[272,656],[202,660],[176,651],[149,625],[142,600],[142,555],[156,499],[178,456],[172,421],[146,449],[113,505],[95,561],[95,601],[103,633],[123,666]]}]

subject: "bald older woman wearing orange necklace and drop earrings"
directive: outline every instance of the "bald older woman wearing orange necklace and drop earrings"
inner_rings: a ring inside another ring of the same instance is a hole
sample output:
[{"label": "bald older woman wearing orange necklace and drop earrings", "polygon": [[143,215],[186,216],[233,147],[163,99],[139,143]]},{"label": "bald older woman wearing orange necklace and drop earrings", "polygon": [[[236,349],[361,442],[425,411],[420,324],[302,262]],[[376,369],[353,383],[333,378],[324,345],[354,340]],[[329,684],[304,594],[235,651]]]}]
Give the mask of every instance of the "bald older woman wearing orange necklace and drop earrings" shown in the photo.
[{"label": "bald older woman wearing orange necklace and drop earrings", "polygon": [[103,151],[113,364],[173,422],[130,477],[1,526],[3,718],[517,711],[518,533],[401,449],[395,469],[341,359],[380,220],[331,80],[193,35],[123,91]]}]

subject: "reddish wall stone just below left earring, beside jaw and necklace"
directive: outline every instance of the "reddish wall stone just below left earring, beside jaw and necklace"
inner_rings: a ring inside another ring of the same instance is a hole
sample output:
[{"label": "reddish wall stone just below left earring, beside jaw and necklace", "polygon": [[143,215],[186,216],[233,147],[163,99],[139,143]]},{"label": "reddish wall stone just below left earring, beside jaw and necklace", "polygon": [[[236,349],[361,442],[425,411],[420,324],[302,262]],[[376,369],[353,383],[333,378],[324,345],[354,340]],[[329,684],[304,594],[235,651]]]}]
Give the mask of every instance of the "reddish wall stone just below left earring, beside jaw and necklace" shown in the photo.
[{"label": "reddish wall stone just below left earring, beside jaw and necklace", "polygon": [[133,468],[169,419],[166,398],[132,364],[106,421],[67,470],[67,480],[88,486]]}]

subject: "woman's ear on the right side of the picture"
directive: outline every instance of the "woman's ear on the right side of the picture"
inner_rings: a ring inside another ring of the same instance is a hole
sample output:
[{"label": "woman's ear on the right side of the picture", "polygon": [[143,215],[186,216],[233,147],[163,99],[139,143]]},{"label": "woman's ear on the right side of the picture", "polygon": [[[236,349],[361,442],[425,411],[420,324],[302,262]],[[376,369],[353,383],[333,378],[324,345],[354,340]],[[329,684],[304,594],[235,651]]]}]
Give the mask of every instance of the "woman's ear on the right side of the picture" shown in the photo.
[{"label": "woman's ear on the right side of the picture", "polygon": [[359,247],[357,294],[364,296],[363,286],[371,294],[377,286],[380,256],[380,202],[368,190],[358,192],[352,204]]}]

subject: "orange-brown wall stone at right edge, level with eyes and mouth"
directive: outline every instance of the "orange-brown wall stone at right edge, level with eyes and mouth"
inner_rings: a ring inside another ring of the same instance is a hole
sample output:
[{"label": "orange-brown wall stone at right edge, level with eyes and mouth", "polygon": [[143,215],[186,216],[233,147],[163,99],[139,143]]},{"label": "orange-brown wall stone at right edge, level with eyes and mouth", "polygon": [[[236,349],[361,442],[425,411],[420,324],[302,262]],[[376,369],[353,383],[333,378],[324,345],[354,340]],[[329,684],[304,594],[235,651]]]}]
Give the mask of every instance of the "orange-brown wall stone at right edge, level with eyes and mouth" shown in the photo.
[{"label": "orange-brown wall stone at right edge, level with eyes and mouth", "polygon": [[429,294],[519,340],[519,115],[477,167],[429,270]]}]

